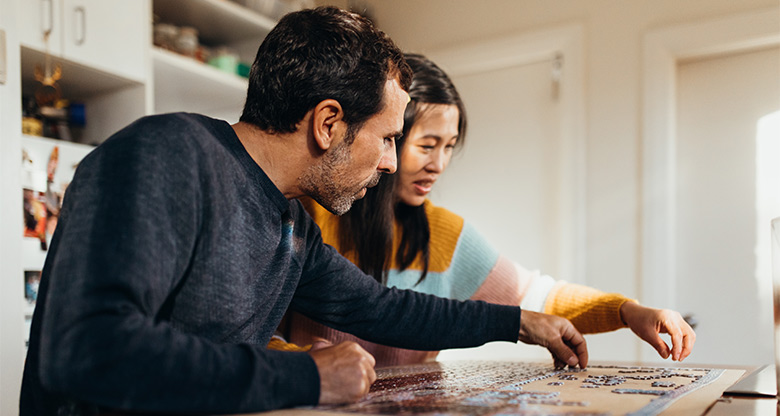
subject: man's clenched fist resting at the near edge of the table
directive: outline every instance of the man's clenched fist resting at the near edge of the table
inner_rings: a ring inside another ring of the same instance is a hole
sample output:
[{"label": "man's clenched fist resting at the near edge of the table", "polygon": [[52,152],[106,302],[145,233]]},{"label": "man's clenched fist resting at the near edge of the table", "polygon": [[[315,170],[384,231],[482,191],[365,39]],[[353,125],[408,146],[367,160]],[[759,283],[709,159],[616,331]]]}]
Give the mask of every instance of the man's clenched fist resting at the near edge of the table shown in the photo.
[{"label": "man's clenched fist resting at the near edge of the table", "polygon": [[354,342],[314,343],[309,355],[320,373],[320,404],[357,401],[376,380],[374,357]]}]

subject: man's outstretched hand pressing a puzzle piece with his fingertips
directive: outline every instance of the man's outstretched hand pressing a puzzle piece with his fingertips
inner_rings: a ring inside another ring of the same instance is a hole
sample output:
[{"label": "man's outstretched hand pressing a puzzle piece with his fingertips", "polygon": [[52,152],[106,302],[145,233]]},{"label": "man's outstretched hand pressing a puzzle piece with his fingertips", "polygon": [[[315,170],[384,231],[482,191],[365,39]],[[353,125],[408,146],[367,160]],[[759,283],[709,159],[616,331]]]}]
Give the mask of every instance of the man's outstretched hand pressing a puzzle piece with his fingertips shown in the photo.
[{"label": "man's outstretched hand pressing a puzzle piece with his fingertips", "polygon": [[524,310],[520,318],[520,341],[546,347],[553,355],[555,367],[588,365],[585,338],[568,319]]}]

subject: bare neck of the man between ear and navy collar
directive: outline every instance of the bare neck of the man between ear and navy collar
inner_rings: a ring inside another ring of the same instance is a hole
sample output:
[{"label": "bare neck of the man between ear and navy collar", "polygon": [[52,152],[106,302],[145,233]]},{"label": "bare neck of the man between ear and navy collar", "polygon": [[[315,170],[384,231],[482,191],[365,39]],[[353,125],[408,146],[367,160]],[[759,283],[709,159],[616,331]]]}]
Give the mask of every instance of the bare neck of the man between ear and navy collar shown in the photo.
[{"label": "bare neck of the man between ear and navy collar", "polygon": [[300,146],[295,141],[302,140],[298,132],[273,134],[245,122],[238,122],[232,127],[249,156],[285,198],[303,195],[298,178],[310,161],[296,151]]}]

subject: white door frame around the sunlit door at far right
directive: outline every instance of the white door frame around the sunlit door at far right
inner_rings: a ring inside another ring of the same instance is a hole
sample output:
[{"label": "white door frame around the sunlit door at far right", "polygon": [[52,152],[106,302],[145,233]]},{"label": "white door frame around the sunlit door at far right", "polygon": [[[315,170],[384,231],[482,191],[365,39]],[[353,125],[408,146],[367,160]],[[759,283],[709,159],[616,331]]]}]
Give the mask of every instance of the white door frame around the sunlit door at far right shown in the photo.
[{"label": "white door frame around the sunlit door at far right", "polygon": [[640,297],[677,308],[677,65],[780,45],[776,8],[649,31],[643,40]]}]

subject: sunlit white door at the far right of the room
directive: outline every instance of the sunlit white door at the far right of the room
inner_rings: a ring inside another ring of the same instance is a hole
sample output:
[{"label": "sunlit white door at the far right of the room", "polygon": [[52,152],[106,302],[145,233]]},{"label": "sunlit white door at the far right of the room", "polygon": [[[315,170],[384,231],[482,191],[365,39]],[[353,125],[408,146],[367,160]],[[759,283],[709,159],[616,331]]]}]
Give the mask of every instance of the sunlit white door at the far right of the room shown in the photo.
[{"label": "sunlit white door at the far right of the room", "polygon": [[780,49],[683,62],[677,91],[676,297],[700,321],[691,359],[771,363],[780,131],[759,125],[780,111]]}]

